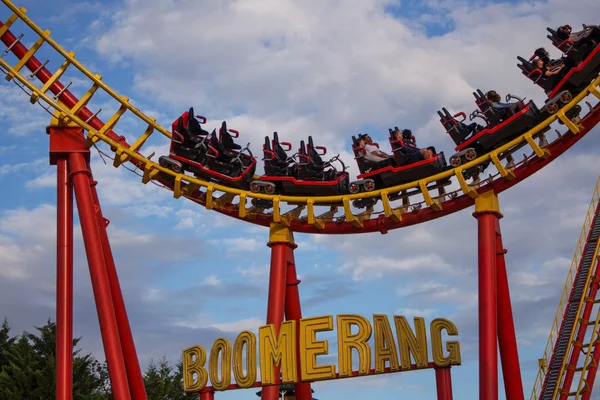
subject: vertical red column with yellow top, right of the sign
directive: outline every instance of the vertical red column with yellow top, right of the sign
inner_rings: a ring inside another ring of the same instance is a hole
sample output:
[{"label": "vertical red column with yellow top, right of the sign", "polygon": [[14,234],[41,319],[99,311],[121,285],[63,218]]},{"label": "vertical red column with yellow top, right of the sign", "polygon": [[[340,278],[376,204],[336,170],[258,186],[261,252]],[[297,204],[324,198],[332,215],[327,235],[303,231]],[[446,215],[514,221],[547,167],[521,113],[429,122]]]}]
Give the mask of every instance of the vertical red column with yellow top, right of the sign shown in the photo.
[{"label": "vertical red column with yellow top, right of the sign", "polygon": [[479,258],[479,398],[498,399],[496,221],[498,198],[486,192],[475,200]]}]

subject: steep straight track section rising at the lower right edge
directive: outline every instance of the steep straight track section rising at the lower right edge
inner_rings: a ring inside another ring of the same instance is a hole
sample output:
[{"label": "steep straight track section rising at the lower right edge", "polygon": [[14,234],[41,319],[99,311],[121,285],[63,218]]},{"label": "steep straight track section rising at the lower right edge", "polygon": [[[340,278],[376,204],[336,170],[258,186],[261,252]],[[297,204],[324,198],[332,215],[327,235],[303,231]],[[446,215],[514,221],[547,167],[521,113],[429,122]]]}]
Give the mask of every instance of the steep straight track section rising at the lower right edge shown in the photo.
[{"label": "steep straight track section rising at the lower right edge", "polygon": [[[592,308],[598,302],[600,281],[600,180],[588,208],[575,254],[559,301],[556,317],[540,369],[533,386],[531,400],[580,398],[591,390],[590,371],[597,368],[598,356],[593,346],[598,340],[600,311],[591,319]],[[592,328],[591,336],[589,328]],[[586,339],[587,338],[587,339]],[[588,341],[587,344],[584,341]],[[586,352],[587,351],[587,352]],[[579,356],[583,354],[582,359]],[[596,355],[596,357],[594,357]],[[583,361],[583,362],[580,362]],[[595,371],[594,375],[595,375]],[[579,374],[577,389],[571,384]]]}]

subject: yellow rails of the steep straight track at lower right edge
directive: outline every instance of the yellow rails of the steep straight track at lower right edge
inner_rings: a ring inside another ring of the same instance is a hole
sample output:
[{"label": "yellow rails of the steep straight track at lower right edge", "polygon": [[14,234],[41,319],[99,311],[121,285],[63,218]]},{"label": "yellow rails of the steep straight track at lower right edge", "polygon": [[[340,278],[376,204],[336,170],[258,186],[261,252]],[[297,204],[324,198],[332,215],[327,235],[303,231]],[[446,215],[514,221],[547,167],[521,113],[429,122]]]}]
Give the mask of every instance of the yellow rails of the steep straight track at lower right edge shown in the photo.
[{"label": "yellow rails of the steep straight track at lower right edge", "polygon": [[[583,254],[583,249],[585,247],[585,243],[587,241],[588,233],[591,229],[592,220],[594,218],[594,214],[596,212],[596,207],[598,206],[598,201],[600,200],[600,179],[596,183],[596,187],[594,188],[594,193],[592,195],[592,200],[590,202],[590,206],[588,208],[588,212],[585,217],[585,221],[583,222],[583,227],[581,228],[581,233],[579,235],[579,240],[577,241],[577,246],[575,246],[575,253],[573,255],[573,259],[571,260],[571,267],[569,268],[569,272],[567,273],[567,279],[565,281],[565,285],[562,290],[562,295],[558,302],[558,308],[556,310],[556,315],[554,316],[554,322],[552,323],[552,328],[550,329],[550,336],[548,338],[548,343],[546,344],[546,349],[544,350],[544,354],[542,358],[539,359],[539,370],[537,373],[537,377],[535,383],[533,385],[533,390],[530,396],[530,400],[538,400],[541,394],[542,385],[544,382],[544,377],[546,374],[546,370],[550,364],[550,359],[552,358],[552,353],[554,351],[554,345],[556,343],[556,339],[560,333],[560,327],[562,323],[562,318],[565,313],[565,309],[567,307],[567,303],[569,301],[569,295],[571,294],[571,288],[573,286],[573,280],[575,279],[575,275],[577,274],[577,270],[579,267],[579,263],[581,261],[581,257]],[[599,242],[600,244],[600,242]],[[585,294],[589,291],[589,285],[591,283],[591,276],[594,274],[595,264],[594,262],[598,257],[598,246],[596,247],[594,258],[592,260],[592,267],[590,267],[589,275],[587,277],[586,285],[584,288],[584,295],[582,296],[581,302],[579,304],[579,308],[577,310],[577,318],[576,321],[580,321],[581,313],[583,310],[583,305],[585,304]],[[600,314],[599,314],[600,317]],[[598,323],[598,322],[596,322]],[[562,382],[562,376],[565,372],[566,364],[569,362],[571,350],[573,348],[573,337],[577,334],[579,324],[575,324],[573,326],[573,330],[571,332],[571,337],[569,339],[569,351],[566,352],[563,364],[561,366],[561,371],[559,373],[558,382],[556,385],[556,390],[560,388],[560,382]],[[586,364],[588,365],[588,364]],[[583,376],[583,374],[582,374]]]}]

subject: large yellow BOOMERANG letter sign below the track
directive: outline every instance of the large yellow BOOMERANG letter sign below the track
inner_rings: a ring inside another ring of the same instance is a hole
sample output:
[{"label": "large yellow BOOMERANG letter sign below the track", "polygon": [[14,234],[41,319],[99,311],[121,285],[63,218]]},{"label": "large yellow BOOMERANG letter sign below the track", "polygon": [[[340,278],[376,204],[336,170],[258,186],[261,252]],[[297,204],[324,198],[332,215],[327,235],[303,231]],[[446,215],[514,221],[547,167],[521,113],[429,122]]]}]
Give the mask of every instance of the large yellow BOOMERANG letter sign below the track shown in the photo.
[{"label": "large yellow BOOMERANG letter sign below the track", "polygon": [[[265,325],[258,329],[258,340],[254,333],[244,331],[233,345],[229,340],[219,338],[210,351],[208,369],[206,350],[198,345],[189,347],[183,351],[184,390],[189,394],[197,393],[204,389],[209,379],[214,390],[226,390],[232,388],[232,375],[237,383],[235,388],[256,386],[257,357],[261,386],[278,383],[276,376],[279,373],[275,366],[281,368],[281,383],[298,383],[460,365],[458,341],[447,341],[443,345],[442,331],[445,330],[448,336],[458,335],[458,329],[449,320],[437,318],[431,321],[429,345],[423,318],[414,317],[413,330],[404,316],[394,316],[397,335],[394,337],[388,317],[381,314],[373,315],[372,324],[360,315],[338,315],[337,369],[332,364],[319,365],[317,356],[329,354],[329,343],[317,340],[317,333],[332,331],[333,319],[329,315],[285,321],[279,334],[274,325]],[[367,342],[373,334],[371,346]],[[431,348],[433,362],[429,361],[428,348]],[[358,372],[352,371],[352,350],[358,355]],[[411,363],[411,356],[415,364]],[[375,368],[371,369],[373,361]]]}]

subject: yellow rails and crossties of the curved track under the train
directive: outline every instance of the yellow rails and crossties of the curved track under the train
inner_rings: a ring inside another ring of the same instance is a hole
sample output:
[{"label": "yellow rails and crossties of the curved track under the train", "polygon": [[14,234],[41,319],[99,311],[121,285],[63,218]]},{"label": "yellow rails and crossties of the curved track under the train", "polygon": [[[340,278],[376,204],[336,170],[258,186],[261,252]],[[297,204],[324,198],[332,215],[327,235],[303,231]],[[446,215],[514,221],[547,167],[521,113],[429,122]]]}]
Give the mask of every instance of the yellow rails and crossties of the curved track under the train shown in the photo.
[{"label": "yellow rails and crossties of the curved track under the train", "polygon": [[[308,223],[313,224],[317,227],[322,227],[324,221],[332,220],[334,218],[333,208],[329,212],[326,212],[319,216],[315,214],[315,208],[317,206],[331,207],[332,205],[334,205],[334,207],[343,207],[344,212],[341,218],[343,218],[347,222],[351,222],[357,226],[361,226],[362,221],[364,221],[365,218],[370,218],[372,210],[367,210],[367,212],[363,214],[356,215],[353,213],[351,208],[352,201],[356,199],[377,198],[382,201],[383,213],[386,217],[394,219],[395,221],[401,221],[402,214],[406,212],[406,207],[403,205],[402,207],[393,208],[391,206],[390,196],[397,195],[398,193],[406,192],[411,189],[414,190],[415,193],[421,193],[423,197],[422,202],[425,203],[428,207],[431,207],[436,211],[440,211],[443,209],[443,202],[445,200],[445,196],[432,196],[428,189],[429,184],[446,179],[456,179],[456,182],[458,182],[458,185],[460,186],[460,191],[462,193],[467,194],[472,198],[477,197],[479,194],[472,185],[469,185],[466,182],[462,174],[463,170],[476,167],[486,162],[491,162],[498,170],[500,176],[507,179],[512,179],[512,177],[514,177],[514,173],[512,169],[506,168],[504,165],[502,165],[500,161],[501,154],[507,152],[509,149],[512,149],[515,146],[529,145],[538,157],[547,157],[549,155],[548,150],[536,144],[534,138],[536,138],[537,135],[543,133],[543,131],[546,130],[546,128],[548,128],[553,122],[557,121],[558,119],[560,119],[565,124],[565,126],[569,128],[571,132],[577,134],[580,131],[581,126],[573,124],[565,116],[565,112],[567,112],[577,103],[579,103],[589,94],[593,94],[596,97],[600,98],[600,90],[598,90],[598,86],[600,85],[599,77],[595,79],[579,95],[575,96],[569,104],[565,105],[556,114],[550,116],[545,121],[538,124],[535,128],[531,129],[530,131],[526,132],[520,137],[512,140],[510,143],[507,143],[504,146],[488,154],[485,154],[477,158],[476,160],[468,162],[458,168],[448,170],[437,175],[429,176],[419,181],[414,181],[407,184],[398,185],[395,187],[385,188],[381,190],[374,190],[368,193],[348,194],[342,196],[306,197],[257,194],[252,193],[250,191],[234,189],[224,185],[207,182],[205,180],[198,179],[185,174],[175,173],[174,171],[162,167],[158,163],[155,163],[151,161],[148,157],[142,155],[140,153],[140,150],[142,149],[144,143],[154,130],[158,130],[167,137],[171,136],[169,131],[160,126],[158,123],[156,123],[156,120],[153,117],[145,115],[139,109],[131,105],[126,97],[119,95],[116,91],[114,91],[104,82],[102,82],[101,77],[99,75],[95,75],[87,68],[85,68],[80,62],[78,62],[75,59],[73,53],[67,52],[65,49],[59,46],[53,39],[50,38],[48,31],[43,31],[41,28],[35,25],[29,18],[27,18],[27,16],[25,15],[26,10],[24,8],[16,7],[9,0],[2,0],[2,2],[14,12],[14,15],[11,16],[5,22],[5,25],[2,29],[10,27],[10,25],[14,21],[20,19],[29,28],[31,28],[39,37],[39,41],[36,42],[36,45],[34,45],[34,47],[32,48],[34,49],[33,52],[35,52],[35,49],[38,49],[43,43],[47,43],[65,60],[62,66],[59,68],[59,70],[52,76],[52,79],[58,79],[61,75],[64,74],[65,70],[72,65],[76,67],[79,71],[81,71],[93,83],[92,88],[80,98],[81,100],[79,101],[79,103],[75,107],[69,109],[56,98],[52,98],[51,96],[46,94],[46,91],[49,87],[48,84],[43,85],[41,87],[35,85],[20,72],[20,69],[23,67],[24,62],[21,61],[16,65],[12,66],[4,59],[0,59],[0,67],[2,67],[5,73],[7,74],[7,79],[16,80],[16,83],[18,83],[22,88],[30,91],[32,96],[32,102],[36,102],[38,100],[44,101],[54,110],[56,110],[57,116],[60,119],[64,121],[70,120],[79,125],[85,131],[87,131],[87,142],[89,146],[92,146],[98,141],[102,141],[108,144],[116,153],[114,161],[115,167],[120,166],[123,162],[131,161],[134,164],[136,164],[136,166],[142,168],[143,183],[148,183],[151,180],[156,180],[157,175],[159,174],[161,174],[162,176],[168,176],[174,181],[173,194],[175,198],[191,197],[191,194],[193,192],[196,192],[194,198],[195,201],[198,201],[197,193],[198,191],[200,191],[201,195],[199,198],[203,199],[202,202],[205,204],[207,209],[223,209],[227,204],[234,204],[234,201],[237,200],[237,203],[235,204],[237,206],[237,216],[239,218],[247,220],[253,219],[256,215],[262,215],[270,218],[272,222],[285,223],[286,221],[289,222],[289,220],[292,218],[299,218],[300,212],[306,209],[306,220],[308,221]],[[31,57],[33,55],[33,52],[30,51],[31,54],[28,53],[28,56]],[[89,121],[82,120],[78,116],[78,113],[99,90],[104,91],[115,101],[117,101],[119,107],[117,113],[111,116],[108,119],[107,123],[105,123],[101,128],[95,128],[91,126],[90,123],[88,123]],[[131,146],[124,145],[124,141],[113,140],[107,135],[109,131],[116,128],[119,120],[125,112],[133,113],[136,117],[148,124],[148,128],[146,129],[146,131]],[[214,195],[218,193],[221,193],[222,195],[220,197],[214,197]],[[264,210],[256,209],[254,207],[248,209],[246,202],[252,198],[271,201],[273,204],[272,212],[265,213]],[[286,203],[288,205],[295,206],[296,208],[291,212],[288,212],[287,214],[283,214],[282,206]]]}]

